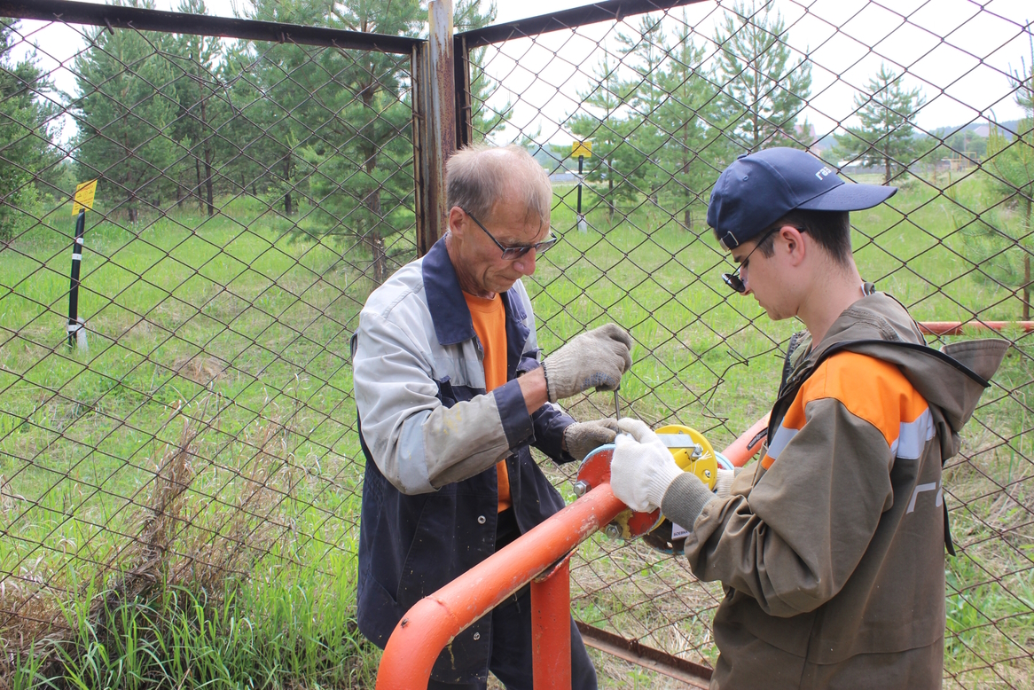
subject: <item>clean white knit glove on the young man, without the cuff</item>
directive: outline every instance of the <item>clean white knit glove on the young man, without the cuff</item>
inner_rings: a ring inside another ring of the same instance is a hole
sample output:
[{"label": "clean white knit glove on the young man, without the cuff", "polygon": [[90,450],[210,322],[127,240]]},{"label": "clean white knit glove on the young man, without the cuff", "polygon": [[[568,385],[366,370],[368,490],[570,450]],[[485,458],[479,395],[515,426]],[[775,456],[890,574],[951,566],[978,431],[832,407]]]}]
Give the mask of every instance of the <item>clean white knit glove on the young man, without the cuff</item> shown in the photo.
[{"label": "clean white knit glove on the young man, without the cuff", "polygon": [[628,417],[618,424],[625,433],[617,434],[614,441],[610,488],[632,510],[652,512],[682,470],[646,424]]}]

